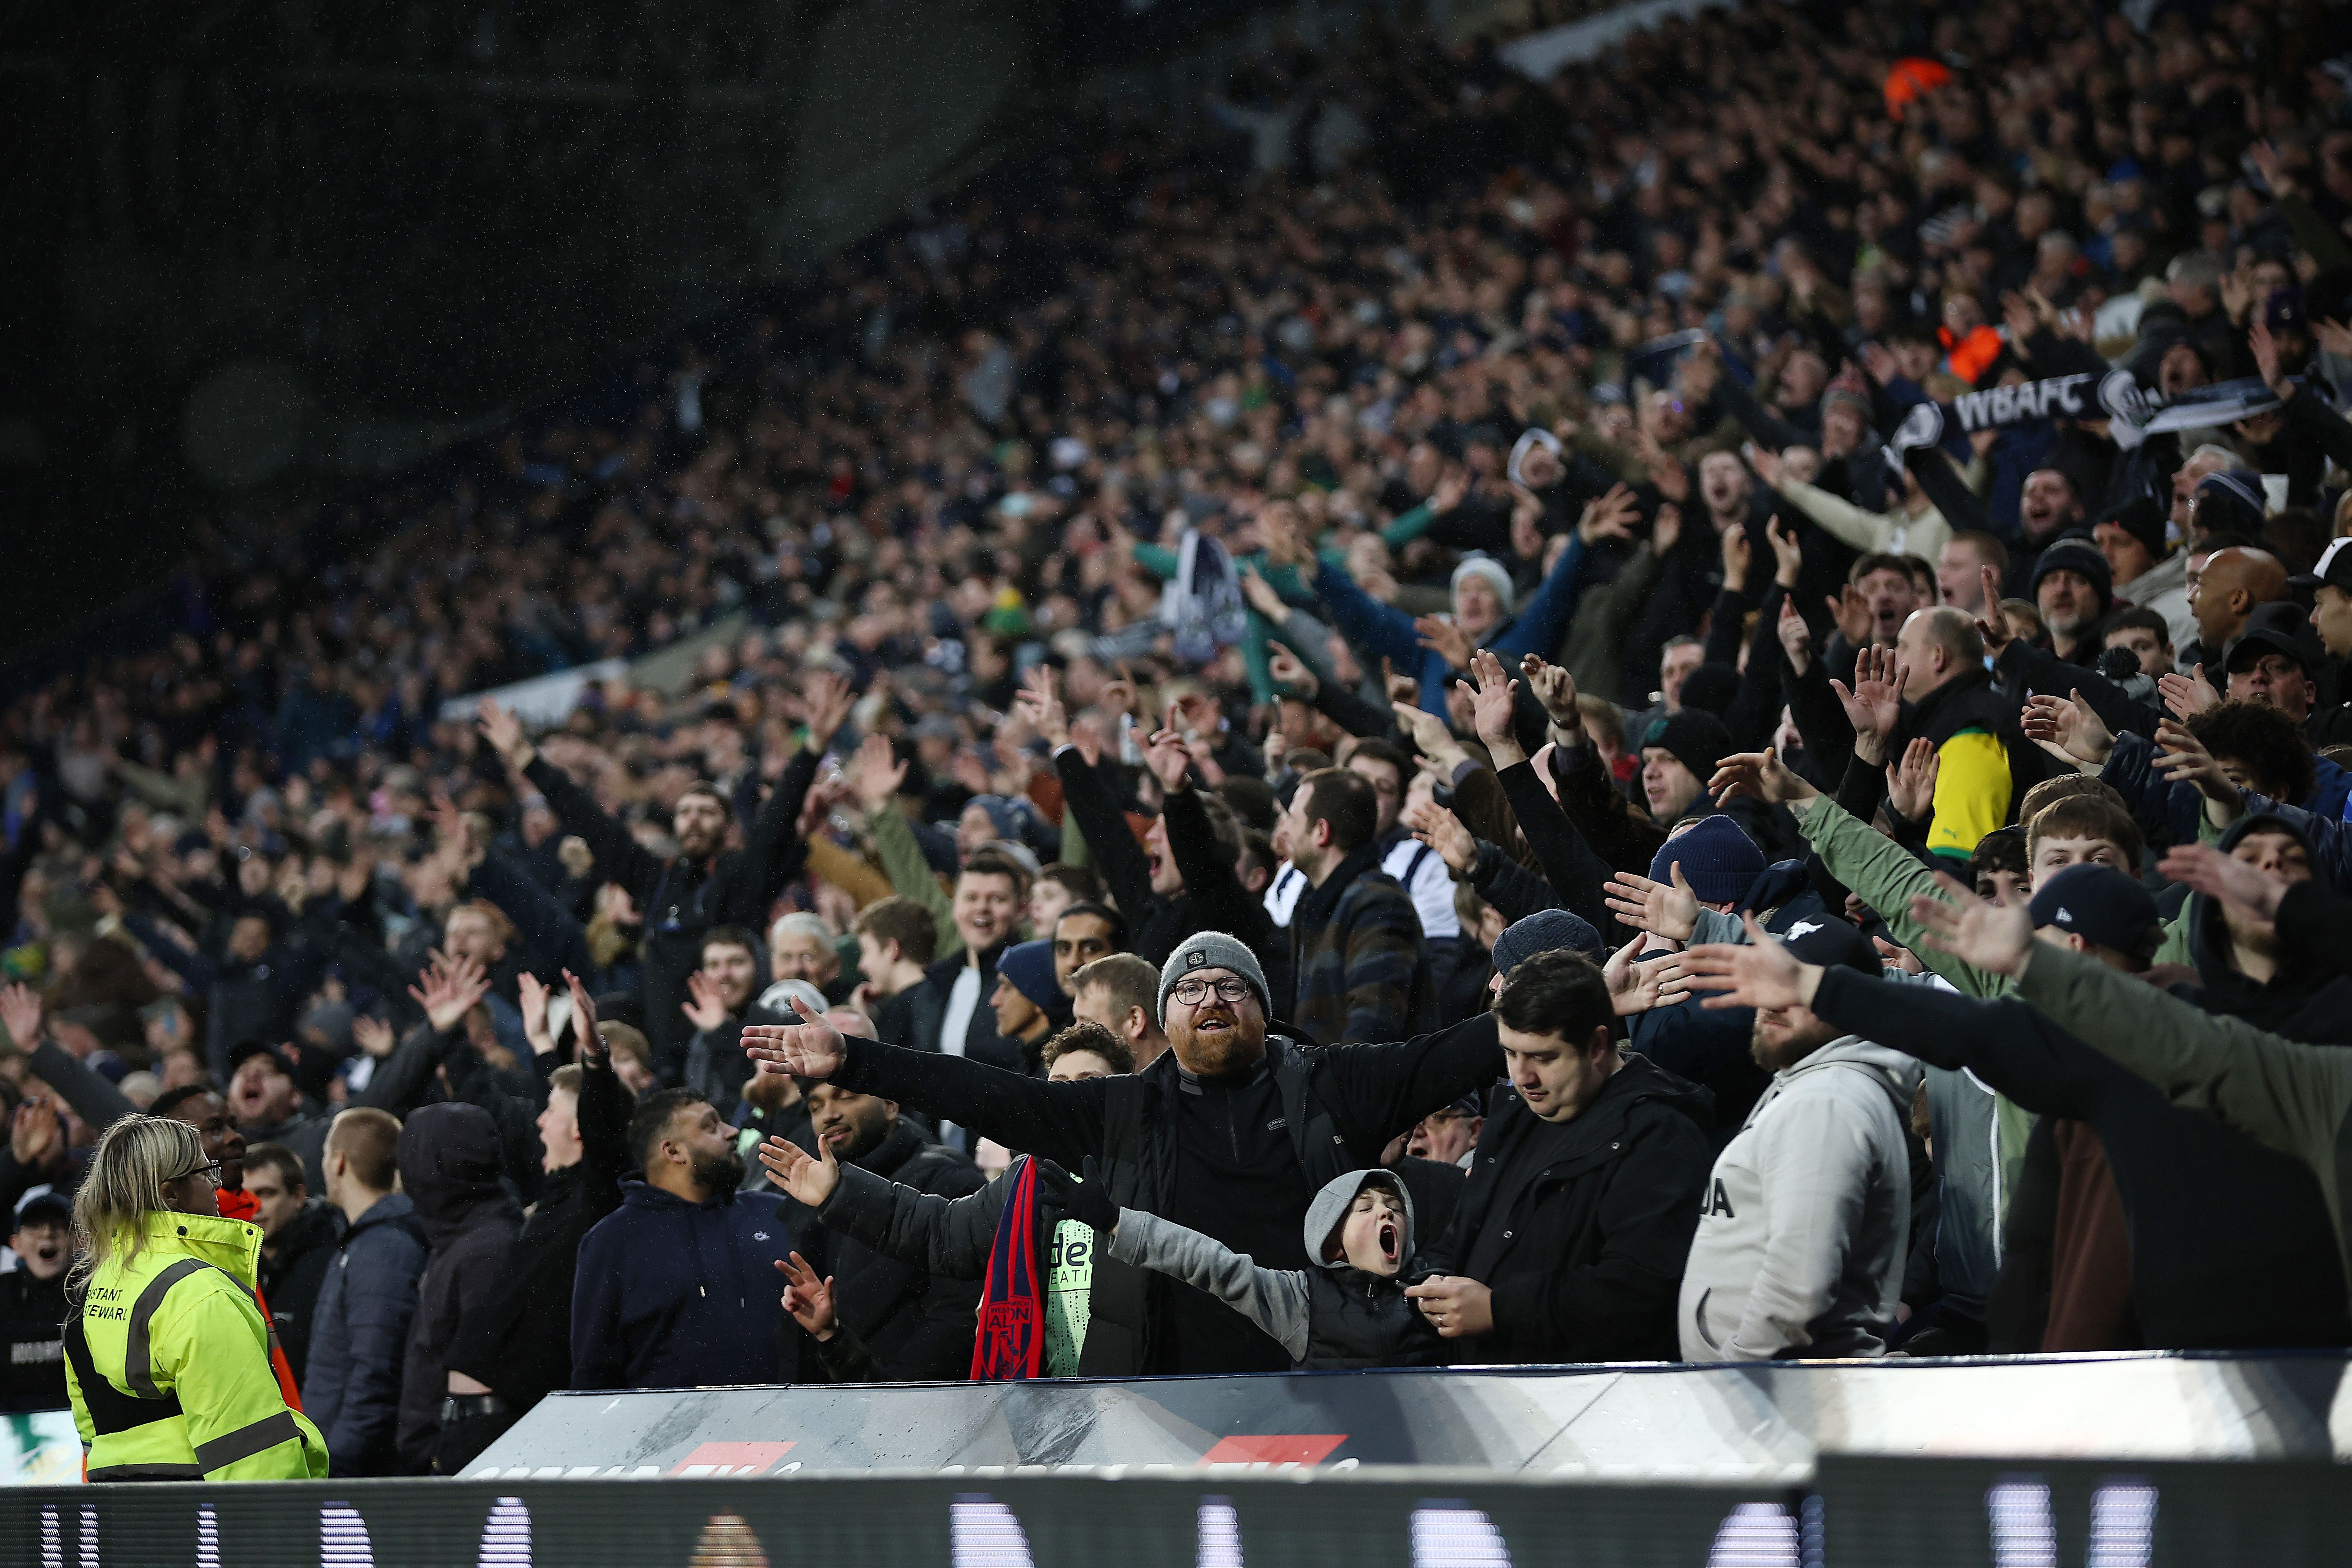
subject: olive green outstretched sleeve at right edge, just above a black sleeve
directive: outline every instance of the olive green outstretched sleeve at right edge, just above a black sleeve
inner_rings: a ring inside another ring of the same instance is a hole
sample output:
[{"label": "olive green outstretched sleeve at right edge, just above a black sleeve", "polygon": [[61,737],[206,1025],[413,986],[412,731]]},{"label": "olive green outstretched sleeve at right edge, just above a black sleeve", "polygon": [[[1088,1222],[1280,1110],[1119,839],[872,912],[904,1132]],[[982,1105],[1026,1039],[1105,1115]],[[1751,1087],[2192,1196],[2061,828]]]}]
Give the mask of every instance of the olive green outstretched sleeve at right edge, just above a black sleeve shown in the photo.
[{"label": "olive green outstretched sleeve at right edge, just above a black sleeve", "polygon": [[2340,1180],[2352,1161],[2352,1051],[2305,1046],[2206,1013],[2049,943],[2034,943],[2018,994],[2161,1088],[2173,1105],[2201,1110],[2307,1164],[2336,1218],[2336,1251],[2352,1276]]}]

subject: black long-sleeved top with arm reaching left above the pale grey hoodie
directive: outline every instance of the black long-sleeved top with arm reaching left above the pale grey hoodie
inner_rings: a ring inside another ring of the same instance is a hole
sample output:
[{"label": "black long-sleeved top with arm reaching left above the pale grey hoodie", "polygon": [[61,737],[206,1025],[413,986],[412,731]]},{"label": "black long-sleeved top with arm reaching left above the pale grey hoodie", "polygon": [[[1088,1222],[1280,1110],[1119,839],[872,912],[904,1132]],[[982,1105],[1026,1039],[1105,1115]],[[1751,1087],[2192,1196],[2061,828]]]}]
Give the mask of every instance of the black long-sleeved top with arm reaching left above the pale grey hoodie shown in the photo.
[{"label": "black long-sleeved top with arm reaching left above the pale grey hoodie", "polygon": [[1813,1011],[1936,1067],[1969,1067],[2027,1112],[2098,1131],[2131,1229],[2131,1305],[2150,1349],[2352,1338],[2328,1208],[2300,1159],[2171,1105],[2025,1001],[1832,969]]}]

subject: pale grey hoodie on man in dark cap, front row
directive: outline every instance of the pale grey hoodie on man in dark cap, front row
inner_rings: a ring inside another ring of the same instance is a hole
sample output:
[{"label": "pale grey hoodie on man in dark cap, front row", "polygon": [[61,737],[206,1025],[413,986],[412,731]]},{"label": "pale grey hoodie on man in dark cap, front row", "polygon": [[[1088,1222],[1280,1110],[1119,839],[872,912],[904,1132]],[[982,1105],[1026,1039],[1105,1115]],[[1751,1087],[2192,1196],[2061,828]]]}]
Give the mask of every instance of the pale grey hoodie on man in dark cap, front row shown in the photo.
[{"label": "pale grey hoodie on man in dark cap, front row", "polygon": [[1877,1356],[1910,1251],[1919,1063],[1853,1034],[1773,1074],[1715,1157],[1682,1269],[1684,1361]]}]

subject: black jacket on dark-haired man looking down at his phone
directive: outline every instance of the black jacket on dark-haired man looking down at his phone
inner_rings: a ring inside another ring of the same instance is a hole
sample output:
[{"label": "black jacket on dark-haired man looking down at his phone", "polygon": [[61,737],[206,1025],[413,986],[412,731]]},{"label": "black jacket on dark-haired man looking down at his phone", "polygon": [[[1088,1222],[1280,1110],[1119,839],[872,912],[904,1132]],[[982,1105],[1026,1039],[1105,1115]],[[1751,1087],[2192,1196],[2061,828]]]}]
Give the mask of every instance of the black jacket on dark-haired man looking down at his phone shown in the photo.
[{"label": "black jacket on dark-haired man looking down at his phone", "polygon": [[1628,1056],[1573,1121],[1501,1095],[1428,1274],[1494,1291],[1456,1361],[1677,1361],[1675,1293],[1715,1152],[1712,1095]]}]

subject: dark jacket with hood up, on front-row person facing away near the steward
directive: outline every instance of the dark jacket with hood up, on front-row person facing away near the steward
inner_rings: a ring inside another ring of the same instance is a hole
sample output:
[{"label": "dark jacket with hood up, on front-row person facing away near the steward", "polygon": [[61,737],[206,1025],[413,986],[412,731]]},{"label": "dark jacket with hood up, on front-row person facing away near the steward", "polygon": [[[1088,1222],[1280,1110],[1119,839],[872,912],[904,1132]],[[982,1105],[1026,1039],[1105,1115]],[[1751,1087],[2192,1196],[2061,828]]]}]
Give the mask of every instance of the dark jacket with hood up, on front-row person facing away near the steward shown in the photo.
[{"label": "dark jacket with hood up, on front-row person facing away near the steward", "polygon": [[499,1128],[480,1105],[426,1105],[409,1117],[400,1185],[433,1248],[400,1368],[400,1462],[426,1474],[449,1396],[449,1345],[466,1314],[496,1298],[522,1211],[499,1185]]}]

